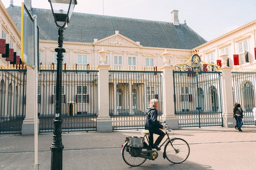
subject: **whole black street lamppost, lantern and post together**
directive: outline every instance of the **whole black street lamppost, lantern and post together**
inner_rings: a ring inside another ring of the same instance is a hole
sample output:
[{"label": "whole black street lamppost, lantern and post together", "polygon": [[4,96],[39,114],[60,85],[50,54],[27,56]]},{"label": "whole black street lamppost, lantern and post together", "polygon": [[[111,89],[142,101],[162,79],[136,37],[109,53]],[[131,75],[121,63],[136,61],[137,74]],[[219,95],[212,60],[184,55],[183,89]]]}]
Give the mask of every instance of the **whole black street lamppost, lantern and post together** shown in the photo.
[{"label": "whole black street lamppost, lantern and post together", "polygon": [[[53,142],[50,146],[52,150],[51,157],[51,170],[62,170],[62,151],[64,146],[62,145],[62,61],[63,52],[63,30],[68,26],[70,17],[73,13],[74,7],[77,4],[76,0],[48,0],[52,8],[54,22],[58,28],[58,48],[57,52],[57,77],[56,77],[56,105],[54,109],[55,117],[53,120]],[[62,26],[57,22],[62,23]]]}]

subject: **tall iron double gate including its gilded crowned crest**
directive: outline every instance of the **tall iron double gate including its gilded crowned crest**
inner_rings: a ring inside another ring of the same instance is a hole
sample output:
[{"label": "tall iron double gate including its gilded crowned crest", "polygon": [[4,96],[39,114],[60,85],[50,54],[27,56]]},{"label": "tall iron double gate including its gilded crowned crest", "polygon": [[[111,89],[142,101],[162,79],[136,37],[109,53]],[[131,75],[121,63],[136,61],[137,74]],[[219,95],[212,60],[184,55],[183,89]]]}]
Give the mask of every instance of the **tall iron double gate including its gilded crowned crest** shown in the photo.
[{"label": "tall iron double gate including its gilded crowned crest", "polygon": [[221,72],[195,54],[174,65],[175,114],[179,127],[223,126]]}]

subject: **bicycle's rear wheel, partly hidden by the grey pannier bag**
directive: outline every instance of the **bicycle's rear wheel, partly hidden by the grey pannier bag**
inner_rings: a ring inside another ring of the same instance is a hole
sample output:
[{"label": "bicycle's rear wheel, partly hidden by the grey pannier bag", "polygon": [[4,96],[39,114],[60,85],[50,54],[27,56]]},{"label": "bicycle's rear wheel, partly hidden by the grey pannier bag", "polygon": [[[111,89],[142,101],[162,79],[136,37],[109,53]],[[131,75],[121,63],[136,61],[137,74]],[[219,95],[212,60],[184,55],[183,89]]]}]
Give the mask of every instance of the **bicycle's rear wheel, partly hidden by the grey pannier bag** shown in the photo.
[{"label": "bicycle's rear wheel, partly hidden by the grey pannier bag", "polygon": [[127,149],[127,143],[123,146],[122,157],[124,162],[130,166],[139,166],[146,161],[146,158],[133,157],[132,155],[130,155]]}]

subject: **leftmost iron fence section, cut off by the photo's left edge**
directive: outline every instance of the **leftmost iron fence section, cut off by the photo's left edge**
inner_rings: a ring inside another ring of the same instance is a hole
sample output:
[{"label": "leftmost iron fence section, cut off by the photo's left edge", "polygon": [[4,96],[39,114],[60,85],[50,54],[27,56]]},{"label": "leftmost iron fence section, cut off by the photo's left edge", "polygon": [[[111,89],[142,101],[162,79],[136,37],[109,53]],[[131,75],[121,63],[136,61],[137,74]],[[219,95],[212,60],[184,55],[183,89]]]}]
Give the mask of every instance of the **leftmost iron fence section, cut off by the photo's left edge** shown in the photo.
[{"label": "leftmost iron fence section, cut off by the photo's left edge", "polygon": [[0,134],[21,134],[26,116],[26,71],[0,66]]}]

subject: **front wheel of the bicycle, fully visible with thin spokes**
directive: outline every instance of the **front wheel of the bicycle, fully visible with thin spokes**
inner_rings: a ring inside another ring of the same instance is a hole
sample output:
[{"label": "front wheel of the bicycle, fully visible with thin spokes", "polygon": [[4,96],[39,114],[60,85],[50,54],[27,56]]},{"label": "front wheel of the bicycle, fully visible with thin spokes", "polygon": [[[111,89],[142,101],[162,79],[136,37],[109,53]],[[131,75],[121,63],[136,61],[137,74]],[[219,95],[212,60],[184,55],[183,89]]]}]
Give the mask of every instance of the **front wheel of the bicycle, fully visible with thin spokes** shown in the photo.
[{"label": "front wheel of the bicycle, fully visible with thin spokes", "polygon": [[171,163],[180,164],[188,158],[190,147],[185,140],[173,138],[166,143],[164,153]]}]

